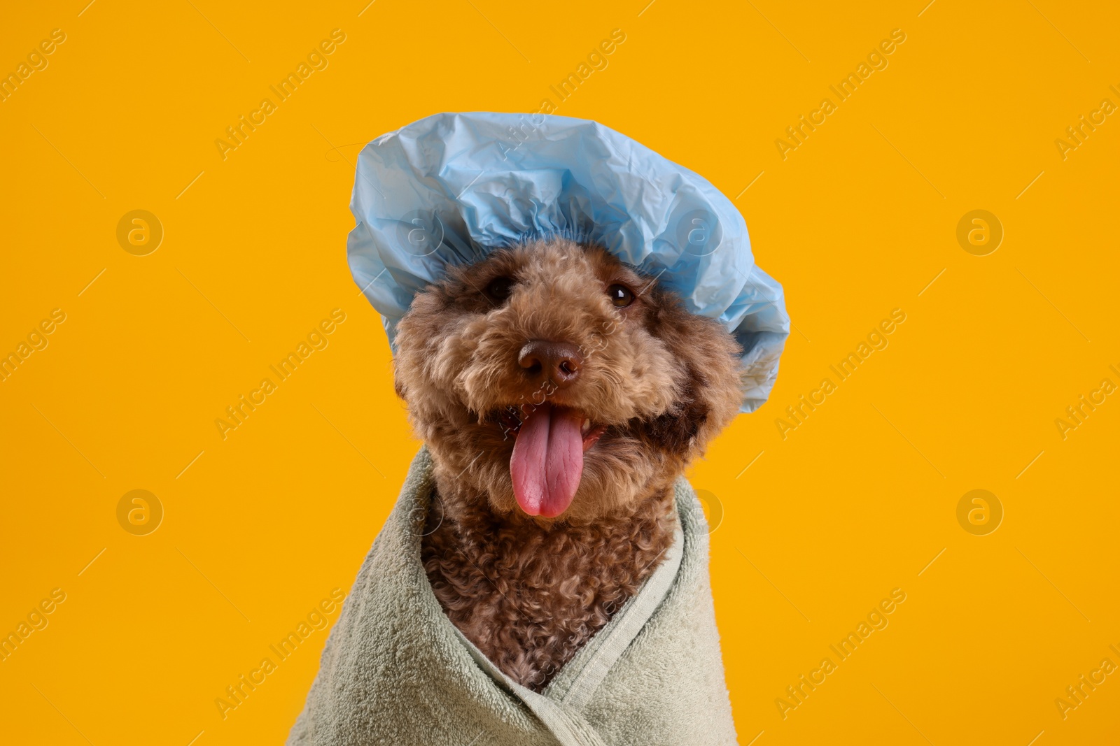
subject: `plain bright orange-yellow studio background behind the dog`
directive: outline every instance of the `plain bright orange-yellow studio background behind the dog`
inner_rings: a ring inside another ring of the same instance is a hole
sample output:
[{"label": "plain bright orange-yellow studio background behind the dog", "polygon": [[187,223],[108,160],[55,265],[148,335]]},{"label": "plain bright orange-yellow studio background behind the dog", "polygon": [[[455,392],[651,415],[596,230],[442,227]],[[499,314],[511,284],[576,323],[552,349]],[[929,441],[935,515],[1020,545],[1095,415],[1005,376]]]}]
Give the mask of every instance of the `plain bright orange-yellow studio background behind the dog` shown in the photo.
[{"label": "plain bright orange-yellow studio background behind the dog", "polygon": [[[66,314],[0,383],[0,632],[66,594],[0,662],[8,739],[282,742],[325,631],[225,719],[214,700],[349,587],[418,447],[346,266],[356,154],[435,112],[557,104],[549,86],[616,28],[557,113],[735,199],[796,324],[771,402],[691,474],[724,512],[711,574],[740,742],[1120,737],[1114,674],[1065,719],[1054,702],[1120,663],[1120,403],[1064,440],[1055,425],[1120,384],[1120,122],[1064,160],[1055,145],[1120,104],[1117,9],[647,1],[6,10],[0,72],[66,35],[0,103],[0,352]],[[336,28],[328,67],[223,160],[215,139]],[[893,29],[888,66],[783,160],[775,140]],[[116,239],[134,209],[165,233],[146,256]],[[956,239],[973,209],[1005,232],[987,256]],[[336,308],[329,346],[223,441],[215,418]],[[889,346],[783,440],[785,407],[893,309]],[[164,509],[147,536],[118,522],[137,489]],[[956,519],[974,489],[1004,509],[987,536]],[[775,699],[893,588],[889,625],[783,719]]]}]

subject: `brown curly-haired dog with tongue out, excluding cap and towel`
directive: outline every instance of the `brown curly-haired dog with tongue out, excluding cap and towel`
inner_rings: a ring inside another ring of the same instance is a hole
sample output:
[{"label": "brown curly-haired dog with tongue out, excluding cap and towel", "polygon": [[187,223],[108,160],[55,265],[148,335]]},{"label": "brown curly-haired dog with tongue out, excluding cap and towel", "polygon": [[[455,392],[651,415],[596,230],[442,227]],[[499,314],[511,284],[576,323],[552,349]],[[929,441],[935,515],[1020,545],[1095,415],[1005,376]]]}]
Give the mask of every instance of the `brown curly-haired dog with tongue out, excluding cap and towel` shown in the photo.
[{"label": "brown curly-haired dog with tongue out, excluding cap and towel", "polygon": [[396,342],[396,393],[435,462],[431,587],[539,691],[671,545],[672,484],[743,400],[739,347],[654,278],[563,239],[451,270]]}]

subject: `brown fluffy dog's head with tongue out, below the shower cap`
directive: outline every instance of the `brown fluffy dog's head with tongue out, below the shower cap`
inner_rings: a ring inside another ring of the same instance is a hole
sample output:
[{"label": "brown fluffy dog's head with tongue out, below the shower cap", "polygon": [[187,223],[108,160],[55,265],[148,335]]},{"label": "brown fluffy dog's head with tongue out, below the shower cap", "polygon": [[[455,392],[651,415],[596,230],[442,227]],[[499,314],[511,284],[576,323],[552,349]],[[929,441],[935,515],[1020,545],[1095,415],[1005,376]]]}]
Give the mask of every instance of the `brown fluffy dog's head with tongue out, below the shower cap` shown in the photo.
[{"label": "brown fluffy dog's head with tongue out, below the shower cap", "polygon": [[589,522],[668,488],[735,417],[739,347],[600,248],[502,249],[418,294],[395,384],[437,479]]}]

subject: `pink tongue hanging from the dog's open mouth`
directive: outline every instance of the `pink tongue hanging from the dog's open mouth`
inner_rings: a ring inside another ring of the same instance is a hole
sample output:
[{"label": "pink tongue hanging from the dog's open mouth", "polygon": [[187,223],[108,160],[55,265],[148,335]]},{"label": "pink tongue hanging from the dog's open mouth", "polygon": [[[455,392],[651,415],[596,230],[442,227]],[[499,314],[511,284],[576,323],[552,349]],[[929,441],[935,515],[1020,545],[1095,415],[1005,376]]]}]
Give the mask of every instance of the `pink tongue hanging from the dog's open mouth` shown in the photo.
[{"label": "pink tongue hanging from the dog's open mouth", "polygon": [[554,518],[568,509],[584,473],[582,418],[549,404],[521,424],[510,459],[513,494],[530,516]]}]

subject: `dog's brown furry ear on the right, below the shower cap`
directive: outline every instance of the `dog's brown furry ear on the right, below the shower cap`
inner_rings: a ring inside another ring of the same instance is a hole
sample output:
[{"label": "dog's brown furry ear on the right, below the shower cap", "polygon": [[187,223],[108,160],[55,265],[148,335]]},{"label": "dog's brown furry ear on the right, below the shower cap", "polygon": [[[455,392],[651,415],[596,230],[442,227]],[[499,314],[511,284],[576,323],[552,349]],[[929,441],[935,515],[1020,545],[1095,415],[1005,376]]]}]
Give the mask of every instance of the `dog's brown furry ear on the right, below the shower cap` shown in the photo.
[{"label": "dog's brown furry ear on the right, below the shower cap", "polygon": [[672,293],[655,290],[650,332],[662,340],[680,366],[676,406],[650,426],[663,447],[688,457],[735,419],[743,402],[741,348],[715,319],[689,313]]}]

